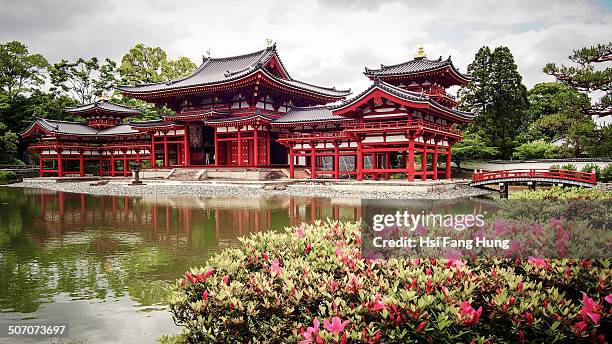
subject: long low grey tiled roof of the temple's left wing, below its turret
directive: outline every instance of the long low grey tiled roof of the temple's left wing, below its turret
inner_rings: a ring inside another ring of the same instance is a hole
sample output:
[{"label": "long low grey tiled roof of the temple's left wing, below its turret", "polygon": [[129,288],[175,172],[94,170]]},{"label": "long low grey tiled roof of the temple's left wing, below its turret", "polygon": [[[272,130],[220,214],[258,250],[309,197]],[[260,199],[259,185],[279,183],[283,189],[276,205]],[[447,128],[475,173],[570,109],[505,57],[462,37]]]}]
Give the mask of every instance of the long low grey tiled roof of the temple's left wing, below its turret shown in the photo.
[{"label": "long low grey tiled roof of the temple's left wing, below its turret", "polygon": [[104,128],[98,130],[92,128],[84,123],[70,122],[70,121],[58,121],[45,118],[37,118],[31,125],[24,131],[29,131],[34,126],[40,126],[43,130],[64,135],[81,135],[81,136],[105,136],[105,135],[126,135],[135,134],[138,131],[130,128],[129,125],[121,124],[110,128]]}]

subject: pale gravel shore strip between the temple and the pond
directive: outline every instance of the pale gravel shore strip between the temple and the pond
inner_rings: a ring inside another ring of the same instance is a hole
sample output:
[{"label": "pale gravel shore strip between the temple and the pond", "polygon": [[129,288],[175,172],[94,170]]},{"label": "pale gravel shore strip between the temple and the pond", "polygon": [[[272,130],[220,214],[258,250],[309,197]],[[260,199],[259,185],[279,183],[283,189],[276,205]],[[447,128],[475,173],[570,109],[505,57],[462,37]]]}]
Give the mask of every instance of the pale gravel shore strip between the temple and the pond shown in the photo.
[{"label": "pale gravel shore strip between the temple and the pond", "polygon": [[164,184],[151,183],[140,186],[130,186],[123,183],[108,183],[105,185],[92,185],[92,182],[22,182],[12,184],[12,187],[42,188],[54,191],[87,193],[94,195],[197,195],[197,196],[301,196],[301,197],[327,197],[327,198],[353,198],[353,199],[453,199],[462,197],[481,196],[490,191],[471,188],[466,185],[457,185],[455,188],[429,193],[417,192],[371,192],[371,191],[344,191],[334,190],[327,185],[294,184],[282,190],[270,190],[261,185],[213,185],[213,184]]}]

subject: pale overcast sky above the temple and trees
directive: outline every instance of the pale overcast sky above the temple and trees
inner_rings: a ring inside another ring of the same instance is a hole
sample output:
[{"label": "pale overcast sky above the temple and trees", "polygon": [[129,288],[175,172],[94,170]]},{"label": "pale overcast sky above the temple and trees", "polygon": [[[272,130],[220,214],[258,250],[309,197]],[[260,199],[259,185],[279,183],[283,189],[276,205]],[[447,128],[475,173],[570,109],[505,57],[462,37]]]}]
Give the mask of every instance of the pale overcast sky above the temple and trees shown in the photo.
[{"label": "pale overcast sky above the temple and trees", "polygon": [[136,43],[171,57],[248,53],[278,44],[289,73],[322,86],[367,87],[371,68],[451,55],[466,71],[483,45],[509,46],[527,86],[550,81],[546,62],[612,37],[612,0],[0,0],[0,41],[19,40],[51,62],[120,59]]}]

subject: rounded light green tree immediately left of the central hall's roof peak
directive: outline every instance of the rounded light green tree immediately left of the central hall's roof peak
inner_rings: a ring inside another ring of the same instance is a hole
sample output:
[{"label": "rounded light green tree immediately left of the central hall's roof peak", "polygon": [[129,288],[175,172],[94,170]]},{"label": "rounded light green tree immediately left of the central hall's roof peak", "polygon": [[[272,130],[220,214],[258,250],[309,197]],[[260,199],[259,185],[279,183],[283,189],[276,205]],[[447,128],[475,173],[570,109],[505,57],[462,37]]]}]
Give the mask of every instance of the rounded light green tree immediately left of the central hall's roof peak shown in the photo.
[{"label": "rounded light green tree immediately left of the central hall's roof peak", "polygon": [[187,57],[169,60],[162,48],[137,44],[121,58],[119,74],[123,83],[137,85],[176,79],[195,69],[195,63]]}]

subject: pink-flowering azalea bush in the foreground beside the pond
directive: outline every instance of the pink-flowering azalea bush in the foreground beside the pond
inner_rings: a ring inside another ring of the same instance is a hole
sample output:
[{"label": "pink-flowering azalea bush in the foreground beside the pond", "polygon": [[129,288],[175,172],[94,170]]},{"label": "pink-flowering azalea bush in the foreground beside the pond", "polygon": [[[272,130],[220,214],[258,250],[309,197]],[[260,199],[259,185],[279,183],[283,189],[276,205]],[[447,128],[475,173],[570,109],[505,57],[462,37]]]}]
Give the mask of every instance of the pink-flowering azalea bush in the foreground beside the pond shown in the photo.
[{"label": "pink-flowering azalea bush in the foreground beside the pond", "polygon": [[181,340],[609,340],[609,260],[367,260],[359,225],[337,222],[241,242],[177,281],[169,304]]}]

